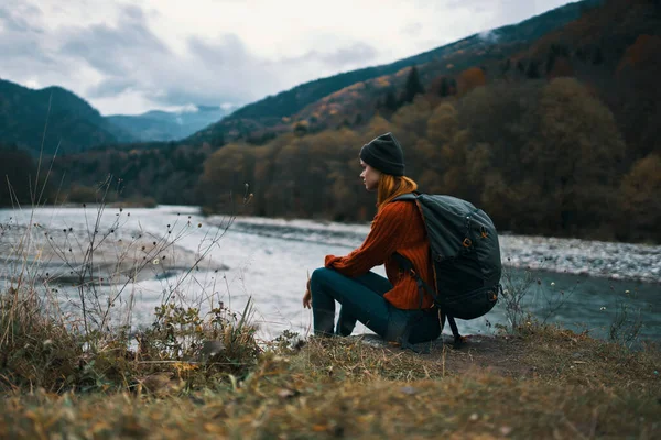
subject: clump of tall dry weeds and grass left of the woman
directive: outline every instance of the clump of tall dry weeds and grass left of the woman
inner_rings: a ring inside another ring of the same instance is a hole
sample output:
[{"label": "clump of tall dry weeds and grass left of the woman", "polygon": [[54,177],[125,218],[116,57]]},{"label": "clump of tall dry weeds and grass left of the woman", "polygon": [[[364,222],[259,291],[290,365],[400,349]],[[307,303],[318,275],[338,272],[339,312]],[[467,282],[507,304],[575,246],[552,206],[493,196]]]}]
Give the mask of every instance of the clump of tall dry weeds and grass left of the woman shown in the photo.
[{"label": "clump of tall dry weeds and grass left of the woman", "polygon": [[208,314],[175,307],[156,311],[137,341],[121,329],[86,333],[43,312],[36,295],[0,294],[0,393],[164,395],[214,388],[243,377],[261,352],[249,322],[226,308]]}]

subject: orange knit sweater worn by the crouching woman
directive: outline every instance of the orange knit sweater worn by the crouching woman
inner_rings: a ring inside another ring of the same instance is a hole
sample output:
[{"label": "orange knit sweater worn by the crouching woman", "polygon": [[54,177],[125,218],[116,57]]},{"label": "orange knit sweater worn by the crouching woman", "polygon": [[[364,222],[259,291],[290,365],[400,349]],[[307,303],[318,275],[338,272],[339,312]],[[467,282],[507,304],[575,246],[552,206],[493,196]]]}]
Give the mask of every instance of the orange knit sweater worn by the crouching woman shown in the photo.
[{"label": "orange knit sweater worn by the crouching woman", "polygon": [[[383,206],[375,217],[371,230],[360,248],[347,256],[326,255],[325,266],[355,277],[384,264],[386,274],[393,287],[383,297],[397,308],[418,309],[418,284],[410,273],[400,271],[392,257],[395,252],[413,263],[422,279],[430,286],[434,285],[430,244],[422,215],[415,202],[393,201]],[[425,292],[422,307],[426,309],[432,305],[432,296]]]}]

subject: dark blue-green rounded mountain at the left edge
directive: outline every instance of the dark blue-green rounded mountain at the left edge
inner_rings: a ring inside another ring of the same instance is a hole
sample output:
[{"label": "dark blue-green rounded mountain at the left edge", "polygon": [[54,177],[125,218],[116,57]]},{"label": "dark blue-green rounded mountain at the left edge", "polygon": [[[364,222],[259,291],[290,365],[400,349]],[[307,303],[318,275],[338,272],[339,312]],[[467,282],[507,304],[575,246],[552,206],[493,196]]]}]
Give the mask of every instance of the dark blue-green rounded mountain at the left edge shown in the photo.
[{"label": "dark blue-green rounded mountain at the left edge", "polygon": [[[44,136],[44,129],[45,136]],[[0,142],[39,153],[84,151],[133,138],[62,87],[30,89],[0,79]]]}]

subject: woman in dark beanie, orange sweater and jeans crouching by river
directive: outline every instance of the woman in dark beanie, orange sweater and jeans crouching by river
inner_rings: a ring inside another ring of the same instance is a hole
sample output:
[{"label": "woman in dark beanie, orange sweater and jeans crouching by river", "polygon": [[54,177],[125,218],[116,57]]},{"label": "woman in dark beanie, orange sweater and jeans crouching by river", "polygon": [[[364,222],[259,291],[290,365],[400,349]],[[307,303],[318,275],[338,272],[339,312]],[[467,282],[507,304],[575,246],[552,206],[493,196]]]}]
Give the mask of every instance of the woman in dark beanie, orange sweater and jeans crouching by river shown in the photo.
[{"label": "woman in dark beanie, orange sweater and jeans crouching by river", "polygon": [[[391,201],[415,191],[404,176],[404,157],[392,133],[376,138],[360,150],[360,177],[368,191],[377,191],[377,215],[365,242],[346,256],[327,255],[307,283],[303,307],[313,309],[316,336],[349,336],[356,321],[388,341],[403,344],[431,341],[441,334],[438,314],[429,293],[419,290],[411,272],[397,254],[413,263],[427,285],[434,285],[430,245],[415,202]],[[386,265],[388,278],[372,272]],[[422,298],[421,298],[422,295]],[[342,304],[334,331],[335,301]]]}]

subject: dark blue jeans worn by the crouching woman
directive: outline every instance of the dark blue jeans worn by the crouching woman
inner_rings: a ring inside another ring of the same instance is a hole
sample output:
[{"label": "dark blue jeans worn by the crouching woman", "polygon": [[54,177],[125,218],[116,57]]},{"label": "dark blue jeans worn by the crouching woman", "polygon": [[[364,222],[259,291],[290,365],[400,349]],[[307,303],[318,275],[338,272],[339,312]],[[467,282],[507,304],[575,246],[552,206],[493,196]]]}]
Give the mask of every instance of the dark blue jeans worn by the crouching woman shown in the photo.
[{"label": "dark blue jeans worn by the crouching woman", "polygon": [[400,341],[407,326],[409,343],[432,341],[441,336],[441,322],[436,309],[431,311],[402,310],[392,306],[383,294],[392,288],[390,282],[368,272],[356,278],[349,278],[329,268],[317,268],[310,282],[314,333],[333,334],[335,321],[335,301],[342,308],[335,328],[335,334],[349,336],[356,321],[388,341]]}]

